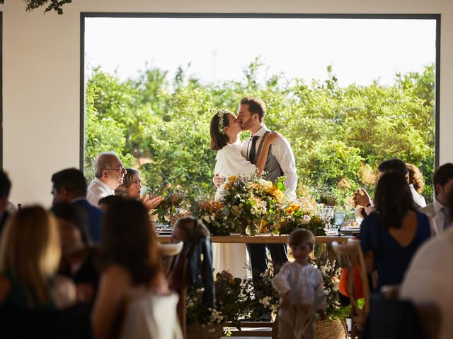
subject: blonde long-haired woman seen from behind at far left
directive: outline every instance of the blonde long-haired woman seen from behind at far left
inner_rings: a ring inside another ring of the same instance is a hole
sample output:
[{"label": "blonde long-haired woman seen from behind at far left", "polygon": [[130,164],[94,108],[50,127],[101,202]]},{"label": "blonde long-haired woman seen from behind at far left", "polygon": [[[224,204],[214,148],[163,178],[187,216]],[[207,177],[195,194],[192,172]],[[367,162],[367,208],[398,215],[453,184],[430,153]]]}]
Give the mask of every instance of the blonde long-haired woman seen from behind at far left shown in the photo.
[{"label": "blonde long-haired woman seen from behind at far left", "polygon": [[61,256],[57,222],[40,206],[22,208],[6,225],[0,242],[0,305],[61,309],[76,289],[57,276]]}]

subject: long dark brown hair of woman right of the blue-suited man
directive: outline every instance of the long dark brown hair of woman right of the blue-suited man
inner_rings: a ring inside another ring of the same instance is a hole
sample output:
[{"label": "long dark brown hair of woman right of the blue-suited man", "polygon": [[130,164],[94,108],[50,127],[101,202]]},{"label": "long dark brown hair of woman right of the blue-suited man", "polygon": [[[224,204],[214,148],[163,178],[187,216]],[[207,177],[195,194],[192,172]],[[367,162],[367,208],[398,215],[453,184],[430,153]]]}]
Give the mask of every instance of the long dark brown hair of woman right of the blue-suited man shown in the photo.
[{"label": "long dark brown hair of woman right of the blue-suited man", "polygon": [[127,269],[134,285],[153,283],[161,271],[157,237],[139,201],[122,198],[108,208],[101,243],[107,263]]}]

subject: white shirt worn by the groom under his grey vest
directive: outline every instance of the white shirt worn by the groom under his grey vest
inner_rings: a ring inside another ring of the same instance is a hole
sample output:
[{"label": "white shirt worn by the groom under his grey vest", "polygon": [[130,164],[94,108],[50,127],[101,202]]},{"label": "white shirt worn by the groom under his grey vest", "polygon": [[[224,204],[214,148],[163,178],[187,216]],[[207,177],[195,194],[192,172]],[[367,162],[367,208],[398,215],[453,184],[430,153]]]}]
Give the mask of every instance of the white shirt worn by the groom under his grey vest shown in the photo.
[{"label": "white shirt worn by the groom under his grey vest", "polygon": [[[263,124],[263,126],[255,133],[253,136],[259,136],[256,141],[256,150],[260,147],[260,143],[263,140],[263,136],[269,131],[269,129]],[[252,137],[252,136],[251,136]],[[251,137],[247,138],[246,141],[243,141],[241,145],[241,154],[243,157],[248,159],[248,153],[250,153],[251,148]],[[294,159],[294,153],[292,153],[291,145],[289,141],[284,136],[280,136],[272,144],[270,152],[277,159],[280,167],[282,168],[283,175],[285,179],[285,187],[287,189],[287,194],[291,198],[296,198],[296,188],[297,188],[297,172],[296,172],[296,160]]]}]

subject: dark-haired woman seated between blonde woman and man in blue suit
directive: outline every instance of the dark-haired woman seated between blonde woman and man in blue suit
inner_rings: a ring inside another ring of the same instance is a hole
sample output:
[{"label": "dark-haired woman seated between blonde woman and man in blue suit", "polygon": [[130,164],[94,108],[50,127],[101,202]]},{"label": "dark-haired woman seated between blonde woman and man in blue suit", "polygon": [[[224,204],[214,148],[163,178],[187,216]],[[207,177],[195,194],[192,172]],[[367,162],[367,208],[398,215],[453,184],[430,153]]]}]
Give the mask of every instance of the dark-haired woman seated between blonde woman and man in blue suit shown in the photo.
[{"label": "dark-haired woman seated between blonde woman and man in blue suit", "polygon": [[76,284],[77,300],[93,302],[98,290],[98,252],[91,246],[84,210],[69,203],[57,203],[52,207],[57,217],[62,242],[62,260],[58,273]]}]

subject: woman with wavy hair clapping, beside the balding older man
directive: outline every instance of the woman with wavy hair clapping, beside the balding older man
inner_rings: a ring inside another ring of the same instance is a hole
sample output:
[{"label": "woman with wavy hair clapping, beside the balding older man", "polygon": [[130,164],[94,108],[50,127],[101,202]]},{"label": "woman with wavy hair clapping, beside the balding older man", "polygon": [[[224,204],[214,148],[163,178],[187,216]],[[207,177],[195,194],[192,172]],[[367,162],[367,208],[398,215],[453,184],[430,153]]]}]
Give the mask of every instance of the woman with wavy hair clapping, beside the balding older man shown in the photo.
[{"label": "woman with wavy hair clapping, beside the balding older man", "polygon": [[142,189],[142,179],[140,172],[134,168],[127,168],[122,184],[115,189],[115,196],[125,196],[126,198],[142,201],[147,210],[154,210],[163,200],[160,196],[149,196],[144,194],[140,198],[140,190]]}]

